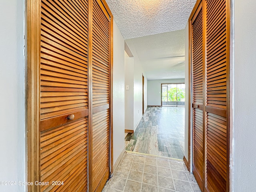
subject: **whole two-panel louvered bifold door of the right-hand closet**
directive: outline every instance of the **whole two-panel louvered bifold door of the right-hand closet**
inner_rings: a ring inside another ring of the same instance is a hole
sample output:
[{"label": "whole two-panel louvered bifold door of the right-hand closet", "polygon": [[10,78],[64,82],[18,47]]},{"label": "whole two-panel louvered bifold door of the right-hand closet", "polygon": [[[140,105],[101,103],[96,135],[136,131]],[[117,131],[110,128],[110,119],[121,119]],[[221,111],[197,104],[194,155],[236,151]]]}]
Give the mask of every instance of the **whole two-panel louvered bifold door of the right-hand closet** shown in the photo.
[{"label": "whole two-panel louvered bifold door of the right-hand closet", "polygon": [[202,0],[192,13],[193,172],[202,191],[228,192],[229,0]]}]

